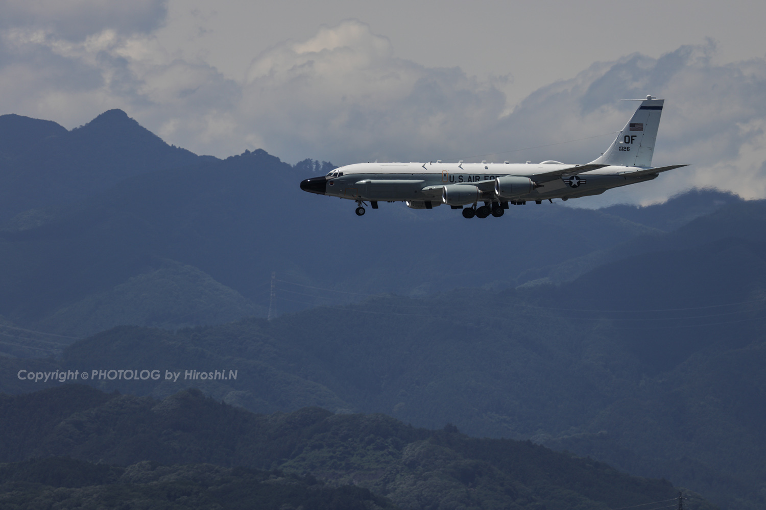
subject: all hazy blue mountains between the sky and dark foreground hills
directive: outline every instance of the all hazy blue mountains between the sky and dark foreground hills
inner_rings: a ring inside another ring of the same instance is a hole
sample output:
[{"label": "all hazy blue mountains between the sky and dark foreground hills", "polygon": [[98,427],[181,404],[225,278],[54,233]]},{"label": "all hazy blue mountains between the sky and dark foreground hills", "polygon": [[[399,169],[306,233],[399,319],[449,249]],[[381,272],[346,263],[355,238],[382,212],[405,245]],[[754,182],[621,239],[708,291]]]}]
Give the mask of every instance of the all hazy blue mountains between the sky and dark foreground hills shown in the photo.
[{"label": "all hazy blue mountains between the sky and dark foreground hills", "polygon": [[[692,190],[647,207],[466,220],[384,203],[359,218],[298,188],[328,163],[197,157],[118,111],[56,126],[0,117],[20,133],[0,145],[3,391],[58,384],[19,369],[159,369],[93,384],[451,423],[724,508],[766,504],[763,202]],[[45,172],[57,180],[36,193]],[[164,378],[217,369],[239,375]]]}]

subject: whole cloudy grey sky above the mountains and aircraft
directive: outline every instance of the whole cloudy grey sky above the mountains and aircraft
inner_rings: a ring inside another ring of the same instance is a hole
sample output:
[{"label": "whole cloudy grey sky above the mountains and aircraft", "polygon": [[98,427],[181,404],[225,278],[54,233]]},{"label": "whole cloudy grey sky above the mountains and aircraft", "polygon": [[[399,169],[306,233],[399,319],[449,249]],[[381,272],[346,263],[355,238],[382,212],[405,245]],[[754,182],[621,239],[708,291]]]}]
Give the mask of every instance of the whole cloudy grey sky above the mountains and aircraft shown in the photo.
[{"label": "whole cloudy grey sky above the mountains and aircraft", "polygon": [[3,0],[0,114],[74,128],[120,108],[218,157],[581,163],[627,122],[619,99],[652,94],[653,164],[692,167],[583,200],[764,198],[764,19],[738,1]]}]

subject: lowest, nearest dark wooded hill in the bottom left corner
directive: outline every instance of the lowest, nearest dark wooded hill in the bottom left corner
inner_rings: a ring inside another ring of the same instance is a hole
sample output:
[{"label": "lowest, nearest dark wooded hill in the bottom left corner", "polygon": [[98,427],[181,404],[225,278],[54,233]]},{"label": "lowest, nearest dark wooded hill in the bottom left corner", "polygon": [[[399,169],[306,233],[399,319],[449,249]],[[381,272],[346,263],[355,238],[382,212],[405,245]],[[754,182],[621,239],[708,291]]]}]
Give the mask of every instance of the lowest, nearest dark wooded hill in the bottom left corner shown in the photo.
[{"label": "lowest, nearest dark wooded hill in the bottom left corner", "polygon": [[27,508],[398,508],[355,486],[329,487],[313,476],[222,468],[211,464],[162,466],[143,461],[108,466],[69,458],[0,464],[0,505]]}]

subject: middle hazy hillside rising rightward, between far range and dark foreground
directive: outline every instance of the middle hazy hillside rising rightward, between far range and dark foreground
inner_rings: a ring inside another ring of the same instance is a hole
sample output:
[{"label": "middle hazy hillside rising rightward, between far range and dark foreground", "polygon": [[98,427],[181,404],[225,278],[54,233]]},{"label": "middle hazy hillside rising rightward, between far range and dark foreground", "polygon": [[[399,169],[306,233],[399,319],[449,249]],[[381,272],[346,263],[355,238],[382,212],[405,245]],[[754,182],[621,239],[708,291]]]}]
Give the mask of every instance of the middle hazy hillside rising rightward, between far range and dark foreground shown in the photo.
[{"label": "middle hazy hillside rising rightward, between far range and dark foreground", "polygon": [[[93,382],[139,395],[192,386],[258,412],[318,405],[532,437],[731,508],[757,506],[764,223],[763,203],[735,203],[617,247],[641,255],[568,284],[376,297],[175,333],[121,327],[74,343],[53,366],[159,369],[157,381]],[[7,362],[8,391],[44,384],[14,378],[18,369],[38,370]],[[228,369],[236,380],[184,379]],[[168,370],[181,375],[168,381]]]}]

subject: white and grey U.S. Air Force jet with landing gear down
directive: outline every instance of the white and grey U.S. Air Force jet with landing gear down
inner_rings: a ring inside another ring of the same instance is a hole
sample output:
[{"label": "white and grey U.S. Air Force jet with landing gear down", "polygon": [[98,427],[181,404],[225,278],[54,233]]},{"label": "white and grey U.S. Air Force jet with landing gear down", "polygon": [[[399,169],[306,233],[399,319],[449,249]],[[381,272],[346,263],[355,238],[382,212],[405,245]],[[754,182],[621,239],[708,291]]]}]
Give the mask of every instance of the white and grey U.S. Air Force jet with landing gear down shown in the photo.
[{"label": "white and grey U.S. Air Force jet with landing gear down", "polygon": [[[627,184],[652,180],[660,172],[686,167],[652,167],[654,141],[664,99],[647,96],[633,117],[601,157],[588,164],[543,161],[504,163],[357,163],[339,167],[322,177],[300,183],[304,191],[354,200],[356,214],[365,213],[365,201],[405,202],[412,209],[432,209],[446,203],[463,209],[463,216],[499,217],[508,204],[553,201],[598,195]],[[479,203],[483,205],[479,206]],[[464,207],[467,206],[467,207]]]}]

